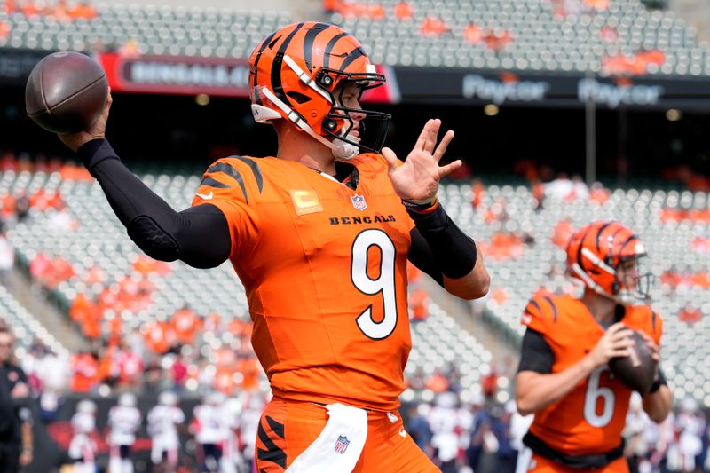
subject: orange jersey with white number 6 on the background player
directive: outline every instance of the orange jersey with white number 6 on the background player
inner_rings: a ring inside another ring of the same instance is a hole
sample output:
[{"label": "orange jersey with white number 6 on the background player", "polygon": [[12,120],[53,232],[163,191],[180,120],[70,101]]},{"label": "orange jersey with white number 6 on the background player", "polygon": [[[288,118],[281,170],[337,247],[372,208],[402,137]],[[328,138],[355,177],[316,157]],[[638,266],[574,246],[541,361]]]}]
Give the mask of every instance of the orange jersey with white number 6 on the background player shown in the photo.
[{"label": "orange jersey with white number 6 on the background player", "polygon": [[[660,343],[663,320],[650,307],[627,307],[621,321]],[[587,306],[571,296],[533,296],[523,323],[540,332],[550,346],[555,357],[552,373],[579,362],[604,335]],[[530,432],[570,455],[610,451],[621,443],[630,397],[631,390],[613,379],[609,367],[598,367],[564,398],[536,413]]]}]

